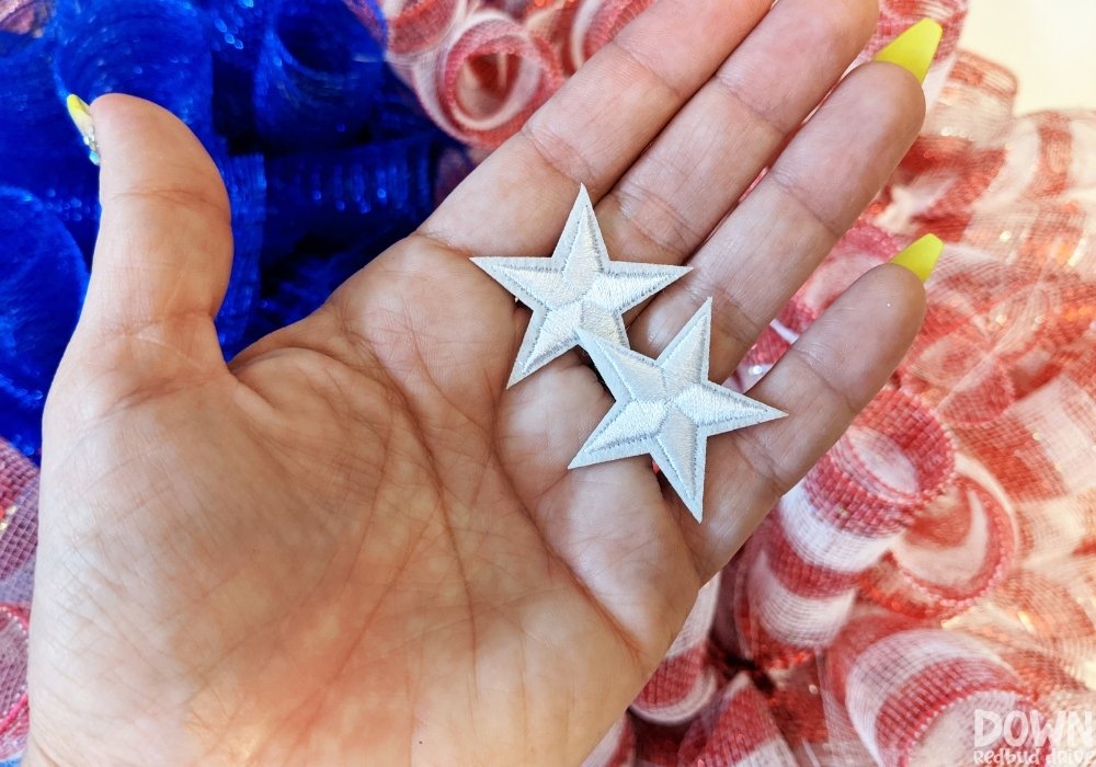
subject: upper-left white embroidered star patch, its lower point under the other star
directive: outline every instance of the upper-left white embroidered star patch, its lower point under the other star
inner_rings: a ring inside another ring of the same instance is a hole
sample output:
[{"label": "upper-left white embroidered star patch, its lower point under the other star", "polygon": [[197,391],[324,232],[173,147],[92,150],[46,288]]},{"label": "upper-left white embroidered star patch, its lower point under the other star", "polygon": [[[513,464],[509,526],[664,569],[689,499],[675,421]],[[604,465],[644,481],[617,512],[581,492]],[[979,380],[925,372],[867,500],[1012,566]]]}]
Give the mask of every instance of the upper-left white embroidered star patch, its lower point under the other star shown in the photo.
[{"label": "upper-left white embroidered star patch, its lower point under the other star", "polygon": [[585,186],[550,259],[478,257],[472,263],[533,309],[507,387],[578,346],[579,330],[627,347],[625,312],[689,271],[609,261]]}]

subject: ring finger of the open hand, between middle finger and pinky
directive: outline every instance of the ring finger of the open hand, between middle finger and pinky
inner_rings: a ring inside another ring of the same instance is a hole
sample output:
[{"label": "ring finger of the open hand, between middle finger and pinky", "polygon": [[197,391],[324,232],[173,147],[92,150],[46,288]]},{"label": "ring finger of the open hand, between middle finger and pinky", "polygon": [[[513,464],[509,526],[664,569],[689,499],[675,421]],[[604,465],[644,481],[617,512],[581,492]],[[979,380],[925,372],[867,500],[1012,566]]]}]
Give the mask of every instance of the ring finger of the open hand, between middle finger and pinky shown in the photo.
[{"label": "ring finger of the open hand, between middle finger and pinky", "polygon": [[906,70],[854,71],[689,261],[693,271],[637,318],[633,347],[663,348],[711,296],[711,378],[724,380],[893,172],[924,112]]}]

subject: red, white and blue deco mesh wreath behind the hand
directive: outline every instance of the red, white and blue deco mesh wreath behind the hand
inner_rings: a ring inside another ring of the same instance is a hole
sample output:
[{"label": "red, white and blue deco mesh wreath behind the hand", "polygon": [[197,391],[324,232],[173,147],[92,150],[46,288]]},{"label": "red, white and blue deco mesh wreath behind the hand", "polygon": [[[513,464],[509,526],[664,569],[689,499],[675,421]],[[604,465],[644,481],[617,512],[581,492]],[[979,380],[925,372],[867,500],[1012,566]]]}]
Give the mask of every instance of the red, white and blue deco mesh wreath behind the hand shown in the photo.
[{"label": "red, white and blue deco mesh wreath behind the hand", "polygon": [[[0,764],[27,731],[42,405],[99,219],[64,96],[156,101],[217,161],[230,356],[411,231],[649,4],[0,0]],[[924,330],[701,589],[586,767],[958,767],[975,710],[1096,710],[1096,113],[1014,116],[1015,78],[957,47],[964,15],[964,0],[882,2],[861,61],[924,16],[945,28],[924,130],[729,385],[932,231],[948,248]],[[1052,740],[1014,728],[982,745],[1089,764],[1092,744]]]}]

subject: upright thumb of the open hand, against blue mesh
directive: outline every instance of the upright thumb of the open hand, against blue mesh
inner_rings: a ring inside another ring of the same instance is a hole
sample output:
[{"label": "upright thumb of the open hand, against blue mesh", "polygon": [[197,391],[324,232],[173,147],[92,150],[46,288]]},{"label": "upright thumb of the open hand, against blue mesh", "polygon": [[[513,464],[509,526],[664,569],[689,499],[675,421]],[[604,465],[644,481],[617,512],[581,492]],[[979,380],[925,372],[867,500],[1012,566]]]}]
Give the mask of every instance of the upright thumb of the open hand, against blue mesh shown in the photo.
[{"label": "upright thumb of the open hand, against blue mesh", "polygon": [[[91,107],[103,218],[76,343],[140,339],[162,358],[222,364],[213,318],[232,265],[228,196],[205,149],[155,104],[106,95]],[[170,370],[165,370],[170,374]]]}]

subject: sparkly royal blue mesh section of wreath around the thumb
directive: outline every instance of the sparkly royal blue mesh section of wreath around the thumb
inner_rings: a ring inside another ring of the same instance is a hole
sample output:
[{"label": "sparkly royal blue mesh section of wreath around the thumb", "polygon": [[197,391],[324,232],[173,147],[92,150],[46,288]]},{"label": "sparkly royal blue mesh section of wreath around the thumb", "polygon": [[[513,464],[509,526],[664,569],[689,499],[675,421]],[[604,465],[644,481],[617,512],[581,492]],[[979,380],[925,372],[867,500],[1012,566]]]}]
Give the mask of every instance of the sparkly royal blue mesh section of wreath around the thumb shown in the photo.
[{"label": "sparkly royal blue mesh section of wreath around the thumb", "polygon": [[236,242],[216,320],[226,357],[307,316],[425,218],[438,160],[459,148],[384,64],[375,0],[353,4],[42,0],[37,30],[0,32],[0,437],[36,456],[92,264],[99,172],[69,93],[153,101],[213,156]]}]

